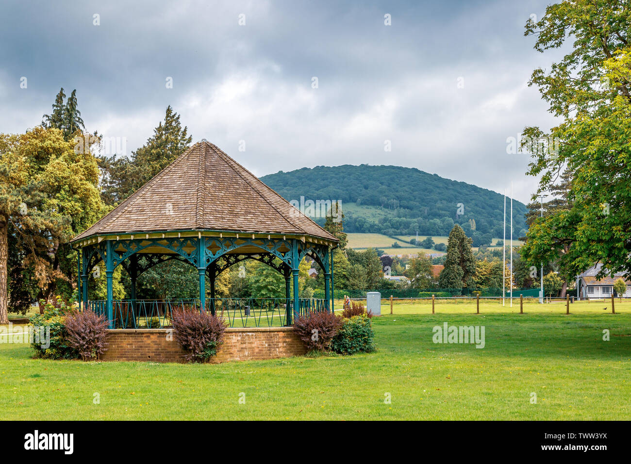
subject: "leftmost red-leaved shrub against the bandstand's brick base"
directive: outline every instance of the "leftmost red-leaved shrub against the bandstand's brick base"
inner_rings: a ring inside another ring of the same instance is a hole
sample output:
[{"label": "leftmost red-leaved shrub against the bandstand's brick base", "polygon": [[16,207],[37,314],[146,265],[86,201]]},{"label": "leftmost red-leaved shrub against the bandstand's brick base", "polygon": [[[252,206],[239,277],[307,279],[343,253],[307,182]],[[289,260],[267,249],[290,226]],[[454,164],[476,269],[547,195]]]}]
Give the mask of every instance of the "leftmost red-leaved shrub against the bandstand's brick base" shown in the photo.
[{"label": "leftmost red-leaved shrub against the bandstand's brick base", "polygon": [[77,350],[81,359],[90,361],[98,359],[107,349],[107,326],[105,316],[97,316],[86,309],[66,316],[66,343]]}]

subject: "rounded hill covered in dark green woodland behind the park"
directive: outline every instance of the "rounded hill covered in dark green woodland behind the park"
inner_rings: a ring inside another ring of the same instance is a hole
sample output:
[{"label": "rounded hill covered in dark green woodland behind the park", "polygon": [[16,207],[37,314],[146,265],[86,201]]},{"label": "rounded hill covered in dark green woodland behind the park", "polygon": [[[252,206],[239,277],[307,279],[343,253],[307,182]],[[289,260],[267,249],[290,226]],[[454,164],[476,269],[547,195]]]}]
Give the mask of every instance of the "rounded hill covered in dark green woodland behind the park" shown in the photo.
[{"label": "rounded hill covered in dark green woodland behind the park", "polygon": [[[346,232],[449,235],[454,223],[474,246],[502,237],[504,196],[466,182],[399,166],[317,166],[276,172],[261,180],[288,201],[339,200]],[[459,203],[464,206],[463,210]],[[510,203],[507,199],[507,238]],[[304,211],[305,212],[305,211]],[[308,211],[307,211],[308,213]],[[513,200],[513,237],[526,235],[526,205]],[[315,217],[317,223],[324,218]]]}]

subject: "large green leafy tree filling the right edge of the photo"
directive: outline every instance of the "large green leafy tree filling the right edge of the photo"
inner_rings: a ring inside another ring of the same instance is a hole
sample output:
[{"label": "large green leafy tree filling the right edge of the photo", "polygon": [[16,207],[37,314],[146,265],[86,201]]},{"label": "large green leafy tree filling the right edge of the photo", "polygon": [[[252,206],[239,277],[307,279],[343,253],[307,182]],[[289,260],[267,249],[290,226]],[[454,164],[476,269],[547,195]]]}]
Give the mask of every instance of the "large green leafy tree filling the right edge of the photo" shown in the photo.
[{"label": "large green leafy tree filling the right edge of the photo", "polygon": [[[550,71],[535,69],[531,76],[530,85],[562,122],[548,133],[524,130],[533,158],[528,174],[540,178],[541,193],[568,169],[572,204],[533,221],[524,258],[533,265],[556,261],[565,277],[598,262],[599,278],[606,271],[631,273],[630,28],[627,5],[616,0],[563,1],[526,24],[536,50],[567,50]],[[548,148],[540,149],[541,140]]]}]

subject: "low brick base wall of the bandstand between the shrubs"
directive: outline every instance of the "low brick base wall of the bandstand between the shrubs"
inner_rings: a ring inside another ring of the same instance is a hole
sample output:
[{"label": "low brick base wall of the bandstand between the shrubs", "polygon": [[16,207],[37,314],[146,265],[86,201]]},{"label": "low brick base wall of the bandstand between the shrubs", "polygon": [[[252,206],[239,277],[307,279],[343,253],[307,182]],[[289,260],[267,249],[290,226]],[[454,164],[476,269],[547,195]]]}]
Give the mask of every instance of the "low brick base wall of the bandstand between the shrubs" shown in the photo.
[{"label": "low brick base wall of the bandstand between the shrubs", "polygon": [[[167,340],[167,329],[113,329],[104,361],[184,362],[184,351]],[[274,359],[307,352],[292,327],[228,328],[213,362]]]}]

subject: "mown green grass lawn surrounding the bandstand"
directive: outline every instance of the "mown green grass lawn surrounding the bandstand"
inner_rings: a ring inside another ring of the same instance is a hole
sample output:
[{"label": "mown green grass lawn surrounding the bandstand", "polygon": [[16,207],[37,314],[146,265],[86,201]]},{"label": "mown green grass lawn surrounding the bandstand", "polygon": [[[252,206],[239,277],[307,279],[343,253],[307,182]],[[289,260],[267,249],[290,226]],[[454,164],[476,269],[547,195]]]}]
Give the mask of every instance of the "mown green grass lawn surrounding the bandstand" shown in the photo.
[{"label": "mown green grass lawn surrounding the bandstand", "polygon": [[[476,315],[443,304],[432,316],[400,304],[373,319],[379,350],[352,357],[84,363],[2,344],[0,407],[8,420],[631,419],[631,303],[615,315],[575,305],[565,316],[562,305]],[[485,348],[433,343],[444,322],[485,326]]]}]

